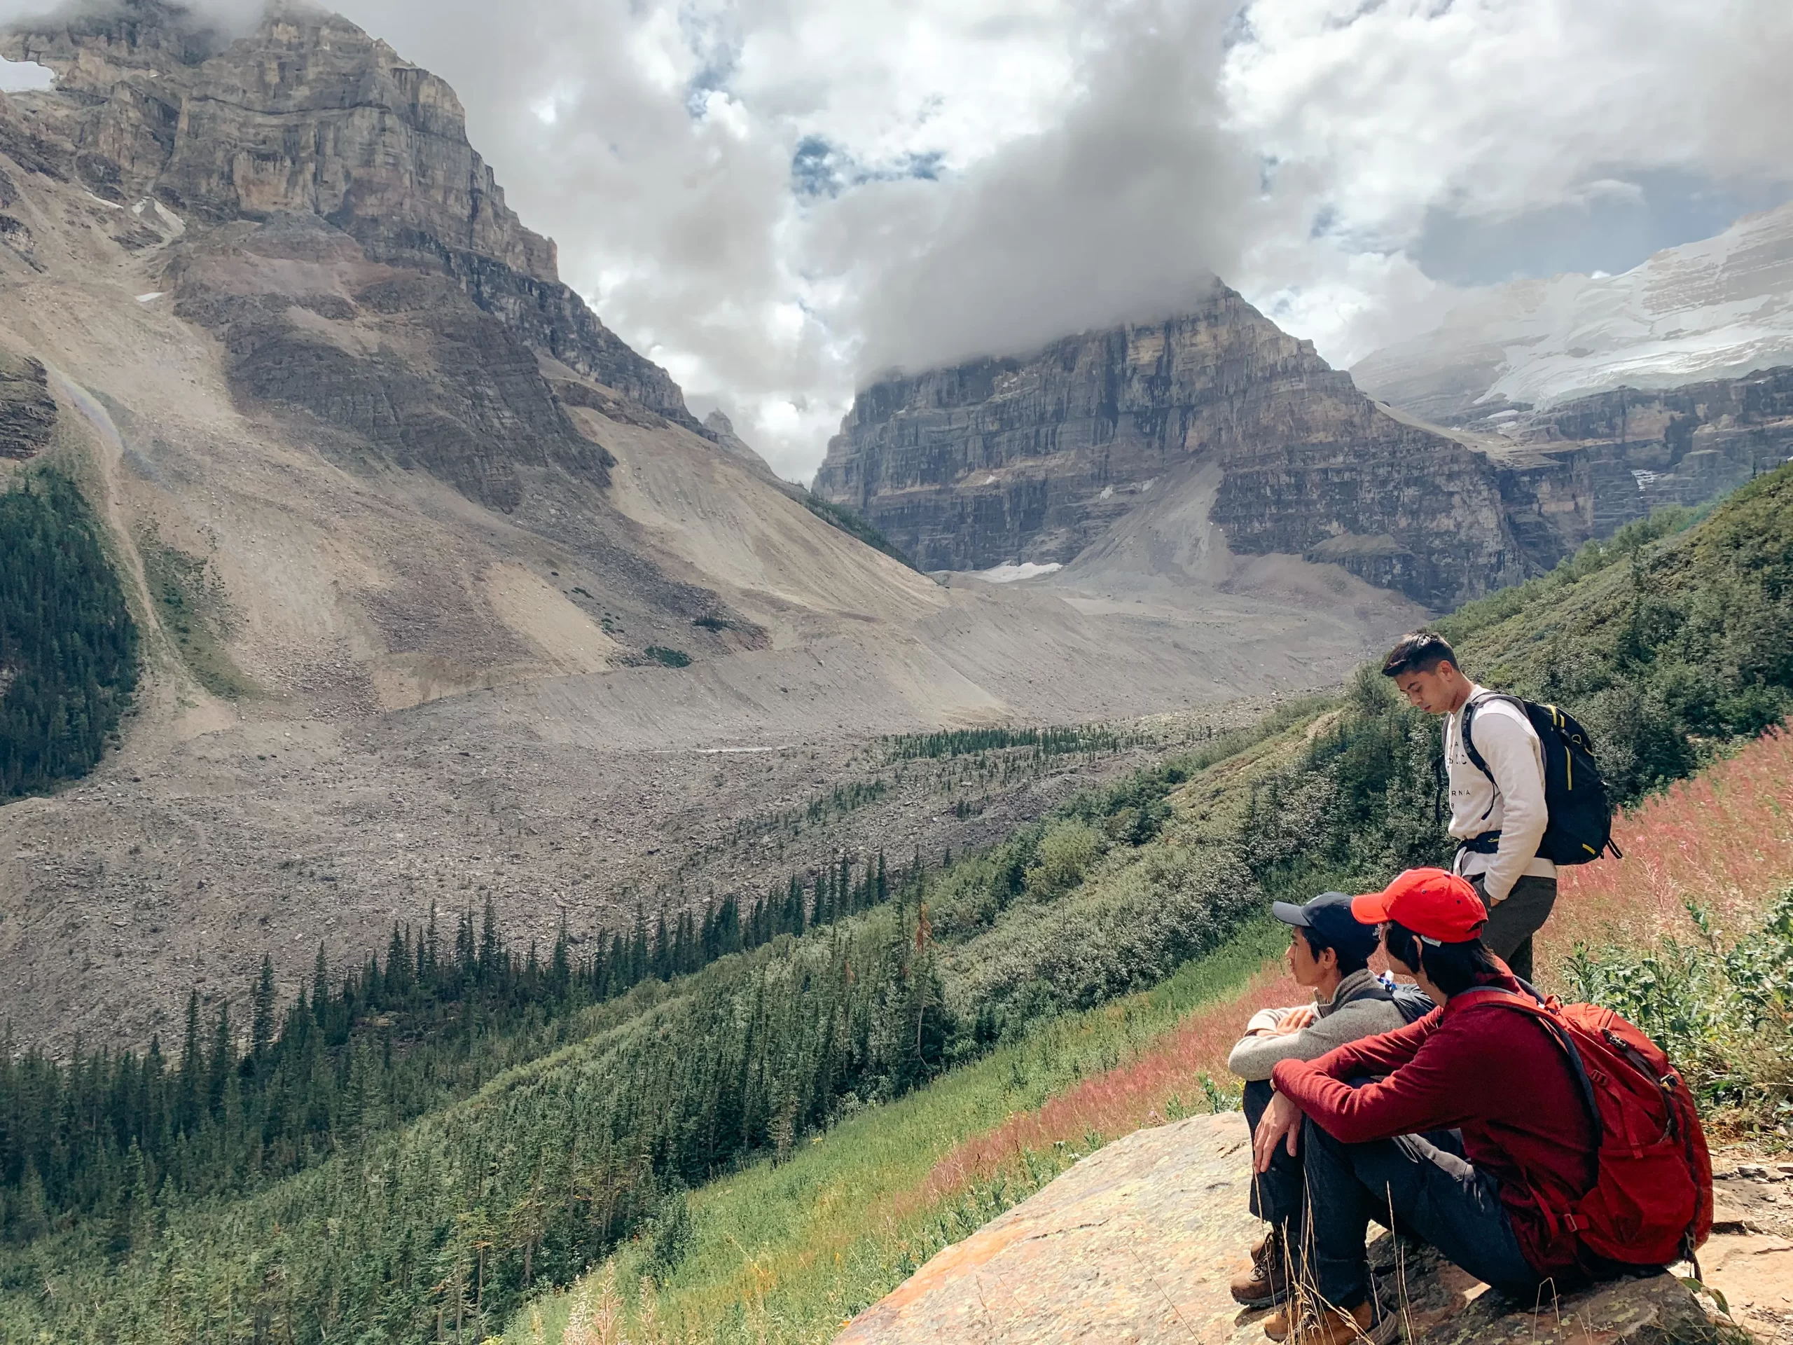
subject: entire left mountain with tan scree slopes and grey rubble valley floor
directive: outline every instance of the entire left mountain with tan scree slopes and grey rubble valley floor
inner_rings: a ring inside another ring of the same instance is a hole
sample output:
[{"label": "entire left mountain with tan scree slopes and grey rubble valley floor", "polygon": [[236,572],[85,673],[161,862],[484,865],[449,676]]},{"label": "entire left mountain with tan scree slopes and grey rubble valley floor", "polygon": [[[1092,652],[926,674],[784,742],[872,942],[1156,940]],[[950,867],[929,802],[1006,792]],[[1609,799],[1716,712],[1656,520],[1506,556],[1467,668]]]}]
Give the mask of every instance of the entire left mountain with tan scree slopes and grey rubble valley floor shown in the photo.
[{"label": "entire left mountain with tan scree slopes and grey rubble valley floor", "polygon": [[59,75],[0,99],[0,473],[81,484],[143,662],[99,771],[0,812],[22,1038],[142,1042],[264,952],[290,994],[319,943],[353,963],[482,888],[550,940],[963,846],[1060,785],[715,837],[864,785],[882,733],[1230,721],[1418,615],[1295,558],[1081,595],[879,554],[699,423],[556,280],[448,86],[344,20],[226,43],[133,0],[0,47]]}]

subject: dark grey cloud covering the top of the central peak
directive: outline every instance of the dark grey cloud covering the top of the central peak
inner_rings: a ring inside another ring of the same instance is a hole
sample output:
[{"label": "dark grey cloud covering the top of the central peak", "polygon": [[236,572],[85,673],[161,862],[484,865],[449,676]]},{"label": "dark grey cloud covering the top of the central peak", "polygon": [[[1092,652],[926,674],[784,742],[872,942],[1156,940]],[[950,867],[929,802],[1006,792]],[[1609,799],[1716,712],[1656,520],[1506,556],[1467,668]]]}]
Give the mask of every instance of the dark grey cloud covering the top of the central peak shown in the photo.
[{"label": "dark grey cloud covering the top of the central peak", "polygon": [[1167,316],[1235,269],[1259,203],[1255,163],[1223,127],[1226,13],[1144,4],[1106,20],[1056,126],[965,174],[834,206],[862,371]]}]

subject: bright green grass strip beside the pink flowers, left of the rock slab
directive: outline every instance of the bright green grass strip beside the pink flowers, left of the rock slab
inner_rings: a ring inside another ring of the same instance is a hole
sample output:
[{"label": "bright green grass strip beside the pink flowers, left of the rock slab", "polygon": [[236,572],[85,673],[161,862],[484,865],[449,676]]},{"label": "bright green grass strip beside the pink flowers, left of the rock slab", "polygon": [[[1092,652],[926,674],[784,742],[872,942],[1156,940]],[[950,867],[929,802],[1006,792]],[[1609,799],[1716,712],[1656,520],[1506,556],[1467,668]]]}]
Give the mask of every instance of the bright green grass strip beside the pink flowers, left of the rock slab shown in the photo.
[{"label": "bright green grass strip beside the pink flowers, left of the rock slab", "polygon": [[[784,1164],[758,1162],[701,1187],[690,1194],[689,1250],[671,1273],[654,1264],[653,1230],[615,1255],[629,1313],[638,1320],[642,1277],[653,1275],[663,1280],[654,1315],[674,1340],[830,1340],[941,1246],[1031,1194],[1104,1137],[1033,1155],[1027,1176],[907,1207],[904,1196],[920,1191],[956,1144],[1131,1060],[1192,1010],[1235,994],[1282,945],[1278,929],[1253,922],[1153,990],[1042,1022],[922,1092],[816,1135]],[[586,1286],[602,1273],[595,1270]],[[534,1304],[545,1340],[561,1338],[572,1302],[572,1293],[554,1293]],[[534,1341],[531,1309],[516,1315],[506,1340]]]}]

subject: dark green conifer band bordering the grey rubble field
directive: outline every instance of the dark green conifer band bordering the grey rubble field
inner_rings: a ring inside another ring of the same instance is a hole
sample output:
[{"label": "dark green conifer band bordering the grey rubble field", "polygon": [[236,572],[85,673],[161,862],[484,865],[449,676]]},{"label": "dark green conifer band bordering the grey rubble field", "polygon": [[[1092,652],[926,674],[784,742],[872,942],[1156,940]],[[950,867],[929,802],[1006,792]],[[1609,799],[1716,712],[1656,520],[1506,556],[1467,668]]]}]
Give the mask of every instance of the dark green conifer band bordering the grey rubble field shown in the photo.
[{"label": "dark green conifer band bordering the grey rubble field", "polygon": [[[916,882],[920,859],[898,882]],[[57,1062],[0,1044],[0,1237],[32,1241],[90,1218],[126,1250],[145,1210],[237,1194],[301,1171],[371,1135],[466,1096],[495,1072],[552,1049],[565,1022],[644,981],[672,981],[719,958],[801,936],[889,898],[884,855],[843,855],[814,875],[744,904],[592,940],[581,954],[565,924],[547,958],[509,947],[488,898],[439,938],[393,927],[385,958],[332,977],[319,947],[308,986],[278,1004],[271,958],[240,1013],[206,1017],[194,990],[179,1049],[88,1051]]]}]

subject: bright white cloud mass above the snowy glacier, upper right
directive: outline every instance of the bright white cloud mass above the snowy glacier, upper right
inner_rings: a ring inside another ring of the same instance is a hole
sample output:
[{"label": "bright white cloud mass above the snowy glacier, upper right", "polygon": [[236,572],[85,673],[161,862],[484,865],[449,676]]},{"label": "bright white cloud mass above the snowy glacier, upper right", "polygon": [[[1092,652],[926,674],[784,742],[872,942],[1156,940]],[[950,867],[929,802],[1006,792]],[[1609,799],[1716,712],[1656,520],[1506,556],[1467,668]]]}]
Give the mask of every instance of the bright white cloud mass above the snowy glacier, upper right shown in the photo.
[{"label": "bright white cloud mass above the snowy glacier, upper right", "polygon": [[[1237,283],[1334,362],[1452,285],[1624,271],[1793,195],[1784,0],[1255,0],[1223,74],[1291,224]],[[1386,265],[1366,265],[1386,258]]]}]

